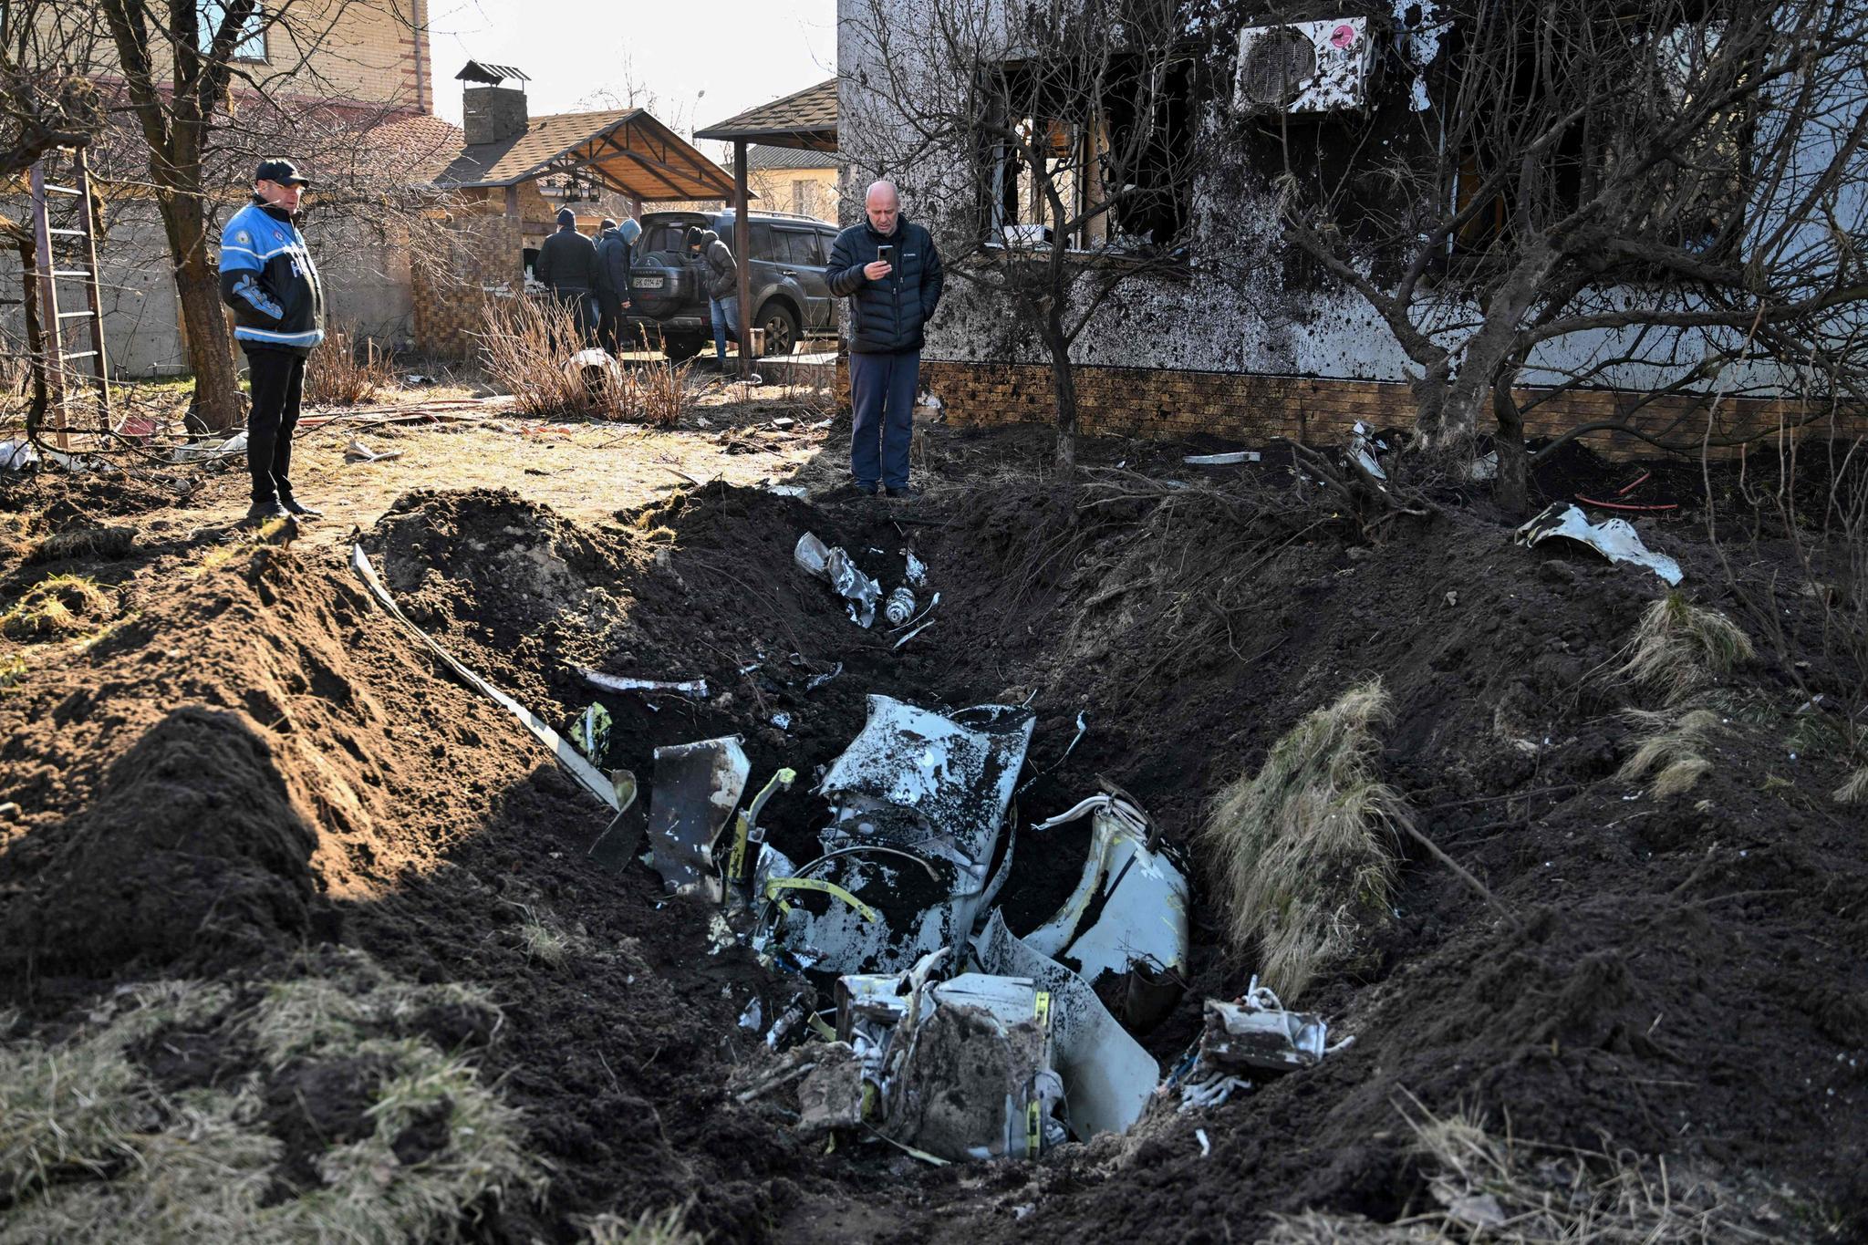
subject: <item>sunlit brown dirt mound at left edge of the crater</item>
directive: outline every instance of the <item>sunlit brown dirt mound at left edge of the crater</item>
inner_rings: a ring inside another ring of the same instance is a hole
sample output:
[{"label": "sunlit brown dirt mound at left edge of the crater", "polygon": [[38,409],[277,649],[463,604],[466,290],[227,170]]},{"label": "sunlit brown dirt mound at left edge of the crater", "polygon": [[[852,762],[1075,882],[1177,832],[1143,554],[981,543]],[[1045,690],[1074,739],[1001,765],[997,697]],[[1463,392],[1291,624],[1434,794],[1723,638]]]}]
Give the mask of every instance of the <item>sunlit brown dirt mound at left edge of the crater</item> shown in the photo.
[{"label": "sunlit brown dirt mound at left edge of the crater", "polygon": [[[331,900],[432,868],[486,819],[476,790],[527,769],[480,754],[497,711],[437,689],[346,575],[288,551],[196,567],[41,661],[0,702],[21,804],[0,827],[7,976],[207,969],[303,939]],[[402,803],[448,750],[454,799],[411,825]]]}]

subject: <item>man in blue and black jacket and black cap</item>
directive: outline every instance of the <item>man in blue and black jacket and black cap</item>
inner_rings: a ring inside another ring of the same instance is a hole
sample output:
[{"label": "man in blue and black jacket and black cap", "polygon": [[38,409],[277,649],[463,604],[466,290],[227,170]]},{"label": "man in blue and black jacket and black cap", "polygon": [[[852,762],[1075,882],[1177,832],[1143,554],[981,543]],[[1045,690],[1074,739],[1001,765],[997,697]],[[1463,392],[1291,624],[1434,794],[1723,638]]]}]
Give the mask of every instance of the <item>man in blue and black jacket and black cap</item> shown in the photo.
[{"label": "man in blue and black jacket and black cap", "polygon": [[293,224],[304,187],[291,161],[262,161],[252,202],[220,231],[220,299],[234,308],[234,340],[247,351],[247,470],[252,506],[245,525],[318,519],[291,495],[291,431],[299,424],[304,360],[325,340],[325,287]]}]

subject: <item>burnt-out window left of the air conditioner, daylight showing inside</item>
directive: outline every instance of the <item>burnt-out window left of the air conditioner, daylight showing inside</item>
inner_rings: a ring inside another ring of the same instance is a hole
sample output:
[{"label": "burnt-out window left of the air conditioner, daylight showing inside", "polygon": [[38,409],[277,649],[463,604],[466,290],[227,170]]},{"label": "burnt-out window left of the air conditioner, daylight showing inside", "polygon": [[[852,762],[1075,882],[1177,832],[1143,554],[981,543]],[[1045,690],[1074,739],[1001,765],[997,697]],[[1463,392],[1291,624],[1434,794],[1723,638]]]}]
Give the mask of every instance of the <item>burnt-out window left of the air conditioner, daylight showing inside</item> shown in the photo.
[{"label": "burnt-out window left of the air conditioner, daylight showing inside", "polygon": [[988,243],[1048,246],[1061,230],[1083,250],[1173,245],[1190,217],[1192,60],[1117,58],[1098,90],[1048,65],[992,77],[979,157]]}]

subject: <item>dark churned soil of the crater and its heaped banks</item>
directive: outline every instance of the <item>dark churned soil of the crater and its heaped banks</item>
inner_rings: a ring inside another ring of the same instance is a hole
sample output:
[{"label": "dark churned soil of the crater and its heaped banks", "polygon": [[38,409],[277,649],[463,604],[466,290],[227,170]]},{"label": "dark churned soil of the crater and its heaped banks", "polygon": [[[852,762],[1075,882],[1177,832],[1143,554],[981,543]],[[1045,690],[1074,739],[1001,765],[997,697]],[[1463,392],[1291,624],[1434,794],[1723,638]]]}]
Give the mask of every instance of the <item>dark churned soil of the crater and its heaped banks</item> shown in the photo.
[{"label": "dark churned soil of the crater and its heaped banks", "polygon": [[[1011,465],[1042,454],[1018,433],[988,444]],[[562,730],[605,704],[607,765],[648,782],[656,747],[740,734],[755,786],[796,767],[768,812],[779,846],[814,838],[814,771],[861,728],[867,694],[1029,698],[1020,823],[1108,778],[1196,877],[1192,980],[1139,1034],[1164,1062],[1194,1040],[1201,999],[1252,974],[1216,943],[1188,847],[1205,801],[1304,713],[1380,676],[1395,704],[1384,776],[1487,894],[1401,844],[1369,956],[1302,1000],[1358,1036],[1313,1071],[1199,1116],[1164,1105],[1130,1139],[1035,1165],[932,1170],[880,1144],[805,1146],[773,1103],[729,1092],[764,1058],[738,1012],[794,984],[745,952],[710,956],[708,913],[665,900],[641,866],[592,868],[598,804],[327,551],[129,581],[131,622],[0,698],[0,791],[22,806],[0,821],[0,982],[54,1019],[116,980],[245,980],[340,941],[413,980],[482,986],[497,1030],[471,1010],[418,1025],[480,1053],[553,1165],[545,1202],[504,1206],[476,1228],[488,1239],[575,1239],[579,1215],[669,1204],[715,1239],[1220,1241],[1304,1208],[1394,1219],[1425,1202],[1414,1103],[1734,1183],[1756,1174],[1810,1223],[1868,1232],[1862,823],[1827,795],[1846,756],[1812,752],[1795,713],[1849,678],[1821,646],[1818,599],[1780,601],[1784,648],[1758,636],[1760,661],[1724,689],[1745,711],[1713,771],[1655,801],[1614,778],[1633,730],[1618,711],[1648,702],[1601,678],[1663,592],[1646,569],[1517,547],[1466,506],[1360,545],[1274,455],[1224,472],[1128,442],[1087,457],[1104,467],[1078,483],[998,474],[910,504],[708,485],[609,525],[502,491],[411,493],[364,547],[415,622],[534,713]],[[1541,483],[1614,493],[1634,474],[1569,454]],[[1743,622],[1698,495],[1666,485],[1689,504],[1642,515],[1644,536],[1698,603]],[[803,530],[884,590],[912,549],[941,594],[934,627],[900,650],[880,622],[857,629],[792,566]],[[1788,566],[1769,543],[1748,558],[1747,584]],[[714,694],[598,694],[573,666],[706,678]],[[1087,825],[1020,834],[1014,930],[1055,909],[1085,842]],[[534,918],[572,935],[562,961],[527,948]],[[219,1075],[217,1058],[179,1055],[170,1075]],[[299,1075],[340,1084],[323,1107],[269,1103],[275,1131],[346,1127],[368,1070]]]}]

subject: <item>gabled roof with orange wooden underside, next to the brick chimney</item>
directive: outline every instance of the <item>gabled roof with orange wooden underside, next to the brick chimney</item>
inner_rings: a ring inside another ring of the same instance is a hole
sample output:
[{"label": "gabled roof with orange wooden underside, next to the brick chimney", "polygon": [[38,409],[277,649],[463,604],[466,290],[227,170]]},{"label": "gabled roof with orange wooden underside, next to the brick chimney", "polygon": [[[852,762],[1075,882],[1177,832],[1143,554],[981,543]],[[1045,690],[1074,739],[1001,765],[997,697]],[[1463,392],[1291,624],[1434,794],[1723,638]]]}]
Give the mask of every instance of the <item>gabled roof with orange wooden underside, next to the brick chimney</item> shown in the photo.
[{"label": "gabled roof with orange wooden underside, next to the brick chimney", "polygon": [[461,147],[435,185],[516,187],[570,172],[644,202],[732,194],[732,175],[725,168],[643,108],[532,118],[516,138]]}]

